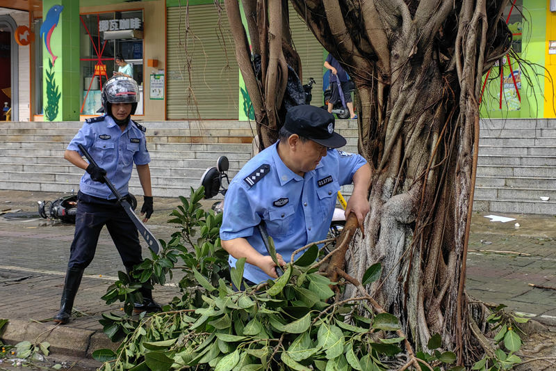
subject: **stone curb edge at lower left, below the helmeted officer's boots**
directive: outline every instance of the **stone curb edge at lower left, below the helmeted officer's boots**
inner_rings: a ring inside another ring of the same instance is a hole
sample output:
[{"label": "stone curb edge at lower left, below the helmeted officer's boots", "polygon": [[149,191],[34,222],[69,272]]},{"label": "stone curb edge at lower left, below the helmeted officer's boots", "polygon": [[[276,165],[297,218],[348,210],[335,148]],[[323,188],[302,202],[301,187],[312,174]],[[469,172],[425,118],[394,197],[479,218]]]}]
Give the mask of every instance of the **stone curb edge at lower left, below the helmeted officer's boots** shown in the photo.
[{"label": "stone curb edge at lower left, below the helmeted officer's boots", "polygon": [[15,345],[24,340],[30,342],[47,341],[50,352],[92,358],[97,349],[117,349],[118,343],[112,342],[104,333],[85,329],[76,329],[68,325],[53,325],[40,322],[27,322],[10,319],[1,333],[4,342]]}]

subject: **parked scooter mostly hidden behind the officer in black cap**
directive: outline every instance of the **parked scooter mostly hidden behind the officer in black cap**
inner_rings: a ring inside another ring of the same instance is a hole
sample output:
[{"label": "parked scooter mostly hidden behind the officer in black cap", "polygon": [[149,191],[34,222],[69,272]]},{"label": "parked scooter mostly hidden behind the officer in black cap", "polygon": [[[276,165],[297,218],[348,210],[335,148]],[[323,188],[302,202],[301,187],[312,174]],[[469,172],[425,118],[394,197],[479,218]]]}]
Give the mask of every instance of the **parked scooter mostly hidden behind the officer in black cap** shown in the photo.
[{"label": "parked scooter mostly hidden behind the officer in black cap", "polygon": [[[204,198],[210,200],[218,194],[222,194],[222,196],[226,195],[226,191],[228,190],[227,186],[229,186],[230,184],[227,175],[228,169],[229,161],[226,156],[218,157],[216,166],[206,169],[201,177],[201,185],[204,187]],[[224,186],[223,180],[227,182],[227,186]],[[338,198],[340,197],[341,194],[338,195]],[[341,198],[341,200],[343,200],[343,197]],[[214,210],[216,214],[221,213],[224,210],[224,200],[218,200],[213,203],[211,209]],[[344,211],[341,208],[336,207],[334,209],[334,214],[332,215],[332,222],[330,223],[330,227],[328,230],[328,237],[337,237],[338,235],[340,235],[344,226]]]}]

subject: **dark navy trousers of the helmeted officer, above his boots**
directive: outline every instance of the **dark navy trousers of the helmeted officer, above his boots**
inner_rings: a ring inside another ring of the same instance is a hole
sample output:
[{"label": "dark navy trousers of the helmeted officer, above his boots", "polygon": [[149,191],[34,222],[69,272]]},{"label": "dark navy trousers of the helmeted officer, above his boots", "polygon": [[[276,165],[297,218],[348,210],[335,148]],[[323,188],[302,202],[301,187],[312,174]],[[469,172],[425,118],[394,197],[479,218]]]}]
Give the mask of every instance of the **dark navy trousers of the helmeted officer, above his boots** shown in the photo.
[{"label": "dark navy trousers of the helmeted officer, above his boots", "polygon": [[75,234],[68,268],[85,269],[95,257],[99,234],[106,225],[124,266],[131,269],[142,262],[137,227],[116,200],[77,195]]}]

